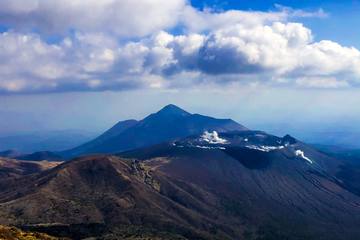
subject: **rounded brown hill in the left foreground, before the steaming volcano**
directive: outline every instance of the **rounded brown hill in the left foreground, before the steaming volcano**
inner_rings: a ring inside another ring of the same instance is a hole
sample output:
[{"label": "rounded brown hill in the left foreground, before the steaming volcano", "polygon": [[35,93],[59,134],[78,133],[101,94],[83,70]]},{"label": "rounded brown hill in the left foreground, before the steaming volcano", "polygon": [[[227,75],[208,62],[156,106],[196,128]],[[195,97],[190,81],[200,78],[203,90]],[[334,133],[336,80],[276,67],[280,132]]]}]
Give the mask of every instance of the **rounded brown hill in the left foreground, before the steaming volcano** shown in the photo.
[{"label": "rounded brown hill in the left foreground, before the steaming volcano", "polygon": [[74,239],[154,231],[170,239],[211,239],[206,229],[213,220],[161,193],[169,181],[136,161],[85,157],[38,176],[0,182],[0,222]]}]

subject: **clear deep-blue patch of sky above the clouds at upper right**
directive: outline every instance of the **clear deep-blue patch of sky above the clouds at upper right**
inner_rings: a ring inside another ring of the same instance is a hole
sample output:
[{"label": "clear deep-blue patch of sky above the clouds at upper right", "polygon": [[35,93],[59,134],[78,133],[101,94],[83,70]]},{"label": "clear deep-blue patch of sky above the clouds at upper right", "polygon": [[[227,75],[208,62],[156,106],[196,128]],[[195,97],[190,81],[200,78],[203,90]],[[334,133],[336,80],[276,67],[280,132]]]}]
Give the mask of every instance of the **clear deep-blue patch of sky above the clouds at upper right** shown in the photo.
[{"label": "clear deep-blue patch of sky above the clouds at upper right", "polygon": [[354,27],[360,25],[360,1],[358,0],[305,0],[305,1],[243,1],[243,0],[192,0],[199,8],[214,7],[222,10],[274,10],[277,4],[295,9],[323,9],[328,13],[326,18],[303,19],[306,26],[313,30],[316,39],[331,39],[347,46],[360,48],[360,35],[354,34]]}]

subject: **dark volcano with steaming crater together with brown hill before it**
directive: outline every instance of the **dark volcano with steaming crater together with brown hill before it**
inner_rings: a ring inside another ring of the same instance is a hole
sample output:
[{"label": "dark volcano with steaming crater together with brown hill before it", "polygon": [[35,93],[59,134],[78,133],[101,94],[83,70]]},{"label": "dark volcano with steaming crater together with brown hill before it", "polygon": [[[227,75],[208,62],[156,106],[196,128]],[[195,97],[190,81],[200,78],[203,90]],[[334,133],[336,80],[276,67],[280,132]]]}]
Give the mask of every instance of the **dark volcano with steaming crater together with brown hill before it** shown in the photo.
[{"label": "dark volcano with steaming crater together with brown hill before it", "polygon": [[0,224],[72,239],[360,239],[339,162],[289,135],[206,131],[0,181]]}]

